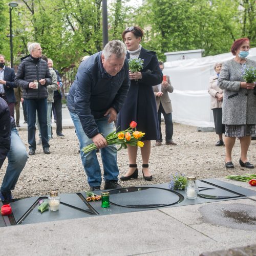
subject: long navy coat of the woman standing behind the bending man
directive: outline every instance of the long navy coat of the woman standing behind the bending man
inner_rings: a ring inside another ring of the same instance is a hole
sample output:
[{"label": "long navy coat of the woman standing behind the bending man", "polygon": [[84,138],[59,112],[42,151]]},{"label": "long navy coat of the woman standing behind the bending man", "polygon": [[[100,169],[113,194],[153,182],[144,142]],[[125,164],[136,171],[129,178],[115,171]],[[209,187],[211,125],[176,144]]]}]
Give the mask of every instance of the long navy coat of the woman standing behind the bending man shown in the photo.
[{"label": "long navy coat of the woman standing behind the bending man", "polygon": [[[130,54],[127,53],[126,57],[129,59]],[[159,124],[153,86],[162,82],[163,74],[155,52],[141,48],[139,58],[144,59],[142,78],[131,80],[130,90],[118,115],[117,127],[125,130],[131,121],[135,121],[137,130],[145,133],[143,140],[156,140],[159,138]]]}]

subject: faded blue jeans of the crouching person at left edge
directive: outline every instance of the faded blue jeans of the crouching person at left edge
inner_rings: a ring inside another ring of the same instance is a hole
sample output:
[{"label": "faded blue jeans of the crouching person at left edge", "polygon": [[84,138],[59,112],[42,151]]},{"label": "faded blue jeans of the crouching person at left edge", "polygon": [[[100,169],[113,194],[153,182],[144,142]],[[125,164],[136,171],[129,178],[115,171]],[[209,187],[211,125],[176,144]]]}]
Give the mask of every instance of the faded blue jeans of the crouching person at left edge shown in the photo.
[{"label": "faded blue jeans of the crouching person at left edge", "polygon": [[8,166],[5,177],[1,186],[1,191],[8,192],[13,190],[20,173],[22,172],[27,159],[28,153],[26,147],[18,135],[16,128],[12,129],[11,133],[11,147],[7,154]]}]

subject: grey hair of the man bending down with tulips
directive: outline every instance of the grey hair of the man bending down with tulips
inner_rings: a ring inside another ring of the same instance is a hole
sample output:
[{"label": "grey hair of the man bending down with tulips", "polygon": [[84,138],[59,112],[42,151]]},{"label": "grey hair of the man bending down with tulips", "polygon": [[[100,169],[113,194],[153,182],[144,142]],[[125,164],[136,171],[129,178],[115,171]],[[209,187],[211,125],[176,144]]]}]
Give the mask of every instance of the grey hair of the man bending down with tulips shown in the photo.
[{"label": "grey hair of the man bending down with tulips", "polygon": [[126,55],[126,47],[122,41],[112,40],[105,45],[102,53],[105,59],[108,59],[111,54],[115,54],[117,58],[123,58]]}]

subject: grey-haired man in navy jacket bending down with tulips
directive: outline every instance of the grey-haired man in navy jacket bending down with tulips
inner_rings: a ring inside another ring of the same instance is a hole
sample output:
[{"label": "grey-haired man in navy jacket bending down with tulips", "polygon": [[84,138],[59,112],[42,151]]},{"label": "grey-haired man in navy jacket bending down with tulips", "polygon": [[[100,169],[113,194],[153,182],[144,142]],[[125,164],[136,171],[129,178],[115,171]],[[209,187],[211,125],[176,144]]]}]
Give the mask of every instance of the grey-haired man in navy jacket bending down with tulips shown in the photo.
[{"label": "grey-haired man in navy jacket bending down with tulips", "polygon": [[113,132],[113,121],[130,87],[126,48],[112,40],[102,52],[82,61],[68,96],[68,109],[80,142],[80,154],[91,190],[100,189],[101,170],[95,150],[81,150],[92,142],[101,149],[104,189],[120,188],[117,151],[103,136]]}]

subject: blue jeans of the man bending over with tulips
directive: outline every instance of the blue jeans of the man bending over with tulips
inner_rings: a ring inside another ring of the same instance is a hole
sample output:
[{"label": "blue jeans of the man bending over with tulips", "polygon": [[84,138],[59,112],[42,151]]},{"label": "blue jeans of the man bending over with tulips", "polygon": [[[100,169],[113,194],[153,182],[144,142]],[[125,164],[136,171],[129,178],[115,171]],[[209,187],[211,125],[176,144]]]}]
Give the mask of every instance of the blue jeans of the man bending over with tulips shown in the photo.
[{"label": "blue jeans of the man bending over with tulips", "polygon": [[[93,150],[87,154],[82,152],[82,148],[87,146],[93,141],[86,136],[82,129],[81,122],[76,113],[70,112],[70,116],[75,125],[76,135],[80,142],[80,155],[82,159],[83,168],[86,171],[88,177],[88,183],[91,187],[100,186],[101,184],[101,170],[99,162],[97,159],[96,151]],[[113,123],[108,123],[109,116],[96,119],[96,124],[98,125],[99,132],[106,137],[108,134],[112,133]],[[104,148],[101,148],[101,159],[104,170],[104,180],[118,180],[119,170],[117,166],[117,150],[114,145],[109,145]]]}]

